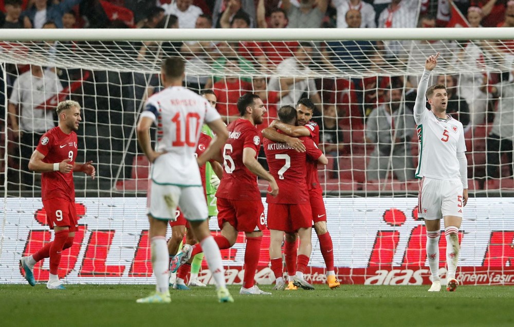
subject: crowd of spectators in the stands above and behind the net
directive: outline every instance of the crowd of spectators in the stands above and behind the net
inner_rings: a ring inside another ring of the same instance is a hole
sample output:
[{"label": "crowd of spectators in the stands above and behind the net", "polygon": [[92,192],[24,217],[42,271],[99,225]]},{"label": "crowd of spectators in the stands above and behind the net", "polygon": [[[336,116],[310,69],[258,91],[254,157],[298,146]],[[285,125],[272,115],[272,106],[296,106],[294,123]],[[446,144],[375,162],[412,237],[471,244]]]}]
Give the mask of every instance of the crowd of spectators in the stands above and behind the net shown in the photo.
[{"label": "crowd of spectators in the stands above and behind the net", "polygon": [[[465,13],[471,27],[514,27],[514,0],[455,0],[454,4]],[[429,0],[5,0],[0,10],[0,28],[433,28],[451,23],[448,2]],[[134,56],[143,63],[159,59],[164,54],[160,49],[167,49],[167,56],[183,56],[193,67],[240,70],[239,76],[222,78],[214,72],[211,76],[188,75],[186,79],[187,86],[198,92],[214,90],[218,99],[216,109],[227,122],[237,116],[235,103],[246,91],[259,94],[268,108],[268,119],[259,126],[261,130],[276,118],[278,107],[294,105],[302,97],[309,97],[317,106],[315,121],[320,125],[320,142],[329,158],[328,174],[322,177],[347,181],[348,190],[357,190],[362,188],[358,184],[366,181],[414,179],[417,135],[412,108],[418,77],[377,74],[366,78],[309,79],[305,76],[320,65],[334,71],[352,71],[401,62],[418,69],[424,63],[416,58],[424,58],[424,52],[434,43],[447,49],[447,53],[441,54],[443,60],[463,67],[481,65],[484,60],[501,55],[498,53],[510,55],[511,51],[509,47],[486,42],[450,41],[140,42],[133,46],[138,49]],[[497,51],[488,52],[490,48]],[[420,55],[416,56],[416,51]],[[495,54],[489,58],[487,53]],[[263,68],[279,74],[298,72],[298,78],[255,77],[253,72]],[[24,123],[24,117],[34,115],[29,106],[39,104],[26,100],[34,95],[29,87],[23,88],[24,79],[25,83],[32,83],[33,78],[55,84],[53,80],[57,76],[60,87],[45,88],[45,93],[39,94],[42,102],[56,96],[63,87],[72,94],[81,93],[85,108],[99,108],[98,112],[103,110],[106,114],[97,115],[91,124],[119,124],[119,130],[109,132],[112,135],[128,135],[134,118],[125,114],[138,112],[141,99],[159,87],[157,76],[135,72],[93,71],[85,77],[79,69],[41,71],[29,66],[6,65],[6,70],[8,78],[2,83],[8,85],[9,116],[0,118],[10,127],[8,137],[13,142],[7,151],[11,155],[9,167],[13,169],[24,165],[14,159],[24,157],[17,149],[22,144],[33,146],[27,135],[36,140],[41,132],[38,126]],[[74,81],[81,79],[95,84],[84,83],[84,87],[74,89]],[[514,188],[511,79],[510,71],[436,77],[448,89],[448,113],[465,126],[468,176],[474,179],[470,189],[498,189],[502,177],[508,180],[503,185]],[[126,100],[127,94],[136,100]],[[116,101],[117,97],[124,100]],[[0,99],[0,104],[3,103]],[[107,107],[114,113],[108,112]],[[17,116],[21,117],[20,121]],[[112,146],[120,152],[124,149],[136,152],[133,140],[129,144],[126,140],[112,141]],[[94,147],[101,144],[95,142]],[[134,177],[131,165],[136,159],[127,156],[124,160],[127,168],[122,176]],[[25,180],[24,184],[32,185],[32,182]]]}]

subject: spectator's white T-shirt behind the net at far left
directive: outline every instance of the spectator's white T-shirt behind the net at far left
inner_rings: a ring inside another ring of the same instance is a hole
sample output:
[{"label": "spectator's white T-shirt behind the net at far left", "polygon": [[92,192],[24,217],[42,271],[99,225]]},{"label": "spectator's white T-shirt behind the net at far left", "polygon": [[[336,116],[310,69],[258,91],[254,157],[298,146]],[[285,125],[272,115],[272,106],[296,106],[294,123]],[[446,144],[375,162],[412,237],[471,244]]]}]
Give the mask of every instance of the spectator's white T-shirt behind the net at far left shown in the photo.
[{"label": "spectator's white T-shirt behind the net at far left", "polygon": [[14,105],[21,106],[20,128],[27,132],[46,132],[56,126],[53,112],[57,100],[45,103],[63,90],[56,73],[43,70],[43,77],[32,75],[29,70],[14,81],[11,98]]}]

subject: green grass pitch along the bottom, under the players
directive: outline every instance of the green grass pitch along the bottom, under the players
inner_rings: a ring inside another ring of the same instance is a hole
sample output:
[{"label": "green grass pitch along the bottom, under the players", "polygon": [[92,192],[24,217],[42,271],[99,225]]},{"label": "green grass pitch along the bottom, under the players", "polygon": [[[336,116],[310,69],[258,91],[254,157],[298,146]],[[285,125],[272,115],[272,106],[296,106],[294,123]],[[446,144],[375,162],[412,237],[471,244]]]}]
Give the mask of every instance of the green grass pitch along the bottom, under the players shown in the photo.
[{"label": "green grass pitch along the bottom, under the players", "polygon": [[[0,326],[514,326],[514,289],[341,285],[239,295],[217,303],[213,286],[171,290],[171,304],[137,304],[152,285],[0,285]],[[261,287],[270,290],[271,286]]]}]

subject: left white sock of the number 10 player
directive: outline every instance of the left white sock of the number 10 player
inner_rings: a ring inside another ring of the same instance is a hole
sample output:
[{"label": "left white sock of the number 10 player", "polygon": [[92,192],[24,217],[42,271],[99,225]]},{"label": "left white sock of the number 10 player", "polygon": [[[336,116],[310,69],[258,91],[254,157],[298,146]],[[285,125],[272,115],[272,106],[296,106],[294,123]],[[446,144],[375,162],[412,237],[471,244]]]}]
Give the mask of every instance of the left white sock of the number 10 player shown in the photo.
[{"label": "left white sock of the number 10 player", "polygon": [[168,245],[166,238],[156,236],[152,238],[152,268],[156,279],[156,290],[160,293],[168,293],[170,285]]}]

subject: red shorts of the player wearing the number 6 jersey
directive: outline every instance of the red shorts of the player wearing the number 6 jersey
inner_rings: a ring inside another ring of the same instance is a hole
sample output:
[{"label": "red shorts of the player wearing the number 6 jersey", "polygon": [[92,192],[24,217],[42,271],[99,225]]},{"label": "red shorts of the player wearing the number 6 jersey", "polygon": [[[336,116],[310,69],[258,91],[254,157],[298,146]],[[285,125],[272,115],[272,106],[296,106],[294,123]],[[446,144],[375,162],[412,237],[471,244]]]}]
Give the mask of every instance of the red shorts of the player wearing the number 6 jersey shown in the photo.
[{"label": "red shorts of the player wearing the number 6 jersey", "polygon": [[225,223],[229,223],[237,231],[248,233],[266,228],[264,206],[261,199],[239,201],[218,197],[216,205],[220,229]]}]

